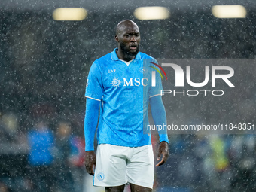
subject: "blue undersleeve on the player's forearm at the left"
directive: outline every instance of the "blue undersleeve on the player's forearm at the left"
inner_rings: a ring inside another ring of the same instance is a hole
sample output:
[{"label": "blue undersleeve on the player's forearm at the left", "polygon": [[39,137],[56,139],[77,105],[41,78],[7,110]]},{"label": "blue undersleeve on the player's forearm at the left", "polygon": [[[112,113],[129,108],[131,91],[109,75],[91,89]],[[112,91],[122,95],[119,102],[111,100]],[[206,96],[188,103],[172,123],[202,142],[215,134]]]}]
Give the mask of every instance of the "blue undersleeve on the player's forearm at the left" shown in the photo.
[{"label": "blue undersleeve on the player's forearm at the left", "polygon": [[87,98],[84,118],[85,151],[94,150],[94,135],[99,117],[99,101]]}]

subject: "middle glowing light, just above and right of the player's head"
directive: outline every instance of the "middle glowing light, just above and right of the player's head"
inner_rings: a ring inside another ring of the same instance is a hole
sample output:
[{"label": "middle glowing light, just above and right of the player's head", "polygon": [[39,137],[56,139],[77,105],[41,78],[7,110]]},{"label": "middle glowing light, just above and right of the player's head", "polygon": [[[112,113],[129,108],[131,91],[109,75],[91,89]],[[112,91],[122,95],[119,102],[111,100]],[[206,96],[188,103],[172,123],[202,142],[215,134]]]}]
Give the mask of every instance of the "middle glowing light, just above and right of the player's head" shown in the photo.
[{"label": "middle glowing light, just above and right of the player's head", "polygon": [[134,16],[139,20],[165,20],[170,17],[170,12],[164,7],[141,7],[136,8]]}]

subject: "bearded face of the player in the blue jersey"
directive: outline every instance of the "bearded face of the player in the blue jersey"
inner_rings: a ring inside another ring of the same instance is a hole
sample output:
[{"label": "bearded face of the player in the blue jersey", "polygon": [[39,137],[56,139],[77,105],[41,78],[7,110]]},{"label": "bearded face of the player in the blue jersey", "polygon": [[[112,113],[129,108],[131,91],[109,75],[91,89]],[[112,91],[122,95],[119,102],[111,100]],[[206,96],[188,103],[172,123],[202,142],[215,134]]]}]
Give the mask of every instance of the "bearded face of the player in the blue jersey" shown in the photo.
[{"label": "bearded face of the player in the blue jersey", "polygon": [[139,52],[139,28],[133,23],[128,23],[120,29],[120,33],[116,37],[120,44],[120,49],[124,54],[136,56]]}]

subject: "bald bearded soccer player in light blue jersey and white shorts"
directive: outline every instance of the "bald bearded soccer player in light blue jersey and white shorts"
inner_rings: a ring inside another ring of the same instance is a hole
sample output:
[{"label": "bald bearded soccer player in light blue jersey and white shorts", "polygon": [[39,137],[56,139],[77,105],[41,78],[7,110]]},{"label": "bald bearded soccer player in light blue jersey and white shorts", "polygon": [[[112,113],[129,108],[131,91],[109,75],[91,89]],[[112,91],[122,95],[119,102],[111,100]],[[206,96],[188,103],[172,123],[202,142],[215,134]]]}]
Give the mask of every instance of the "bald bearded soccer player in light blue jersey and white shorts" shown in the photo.
[{"label": "bald bearded soccer player in light blue jersey and white shorts", "polygon": [[[152,191],[154,156],[151,135],[147,131],[148,103],[156,125],[166,124],[166,112],[160,90],[160,75],[151,71],[154,58],[139,52],[139,27],[132,20],[117,24],[113,52],[96,59],[87,78],[84,119],[85,166],[94,175],[93,185],[108,191]],[[152,66],[151,68],[147,66]],[[154,82],[152,86],[151,81]],[[99,114],[100,108],[100,114]],[[97,151],[94,134],[97,130]],[[147,134],[148,133],[148,134]],[[157,166],[169,155],[166,130],[160,136]],[[95,168],[95,170],[94,170]]]}]

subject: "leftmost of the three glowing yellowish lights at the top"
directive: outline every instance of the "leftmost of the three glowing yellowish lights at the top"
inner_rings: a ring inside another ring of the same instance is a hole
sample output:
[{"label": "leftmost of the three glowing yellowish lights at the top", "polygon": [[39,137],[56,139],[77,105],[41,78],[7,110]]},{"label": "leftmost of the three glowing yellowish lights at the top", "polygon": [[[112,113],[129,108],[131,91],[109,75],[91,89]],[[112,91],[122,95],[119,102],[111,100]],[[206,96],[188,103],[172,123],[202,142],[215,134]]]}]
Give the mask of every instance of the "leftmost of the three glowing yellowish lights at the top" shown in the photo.
[{"label": "leftmost of the three glowing yellowish lights at the top", "polygon": [[84,8],[57,8],[53,11],[53,20],[84,20],[87,10]]}]

